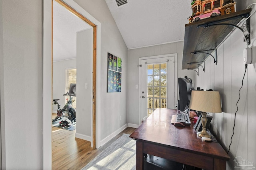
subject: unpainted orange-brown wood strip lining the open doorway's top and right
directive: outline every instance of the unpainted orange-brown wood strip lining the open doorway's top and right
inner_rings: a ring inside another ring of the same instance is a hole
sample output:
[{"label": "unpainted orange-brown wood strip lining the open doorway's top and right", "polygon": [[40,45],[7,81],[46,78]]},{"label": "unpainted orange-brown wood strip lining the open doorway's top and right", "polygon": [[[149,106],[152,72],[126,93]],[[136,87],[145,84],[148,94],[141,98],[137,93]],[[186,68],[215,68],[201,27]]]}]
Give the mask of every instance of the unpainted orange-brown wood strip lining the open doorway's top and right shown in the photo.
[{"label": "unpainted orange-brown wood strip lining the open doorway's top and right", "polygon": [[[78,16],[80,19],[88,23],[93,27],[93,64],[92,64],[92,147],[96,149],[96,39],[97,39],[97,25],[88,20],[82,14],[74,10],[71,6],[63,2],[62,0],[55,0],[60,5],[64,6],[67,10]],[[53,13],[52,13],[53,16]],[[52,19],[53,21],[53,19]]]}]

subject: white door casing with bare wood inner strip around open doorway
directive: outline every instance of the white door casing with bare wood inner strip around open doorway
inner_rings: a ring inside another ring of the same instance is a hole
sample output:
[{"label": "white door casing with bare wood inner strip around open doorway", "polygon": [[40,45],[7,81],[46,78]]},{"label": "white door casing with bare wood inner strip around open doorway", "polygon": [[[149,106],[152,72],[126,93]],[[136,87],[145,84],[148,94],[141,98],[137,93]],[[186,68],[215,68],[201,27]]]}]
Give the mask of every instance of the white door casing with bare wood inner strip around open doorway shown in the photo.
[{"label": "white door casing with bare wood inner strip around open doorway", "polygon": [[[96,121],[97,125],[100,124],[100,93],[96,93],[96,80],[100,83],[100,74],[97,75],[97,72],[100,73],[100,58],[96,57],[100,55],[100,32],[101,26],[100,22],[93,18],[88,12],[81,8],[73,0],[56,0],[62,6],[70,10],[74,15],[78,16],[82,20],[86,21],[89,25],[92,26],[93,30],[93,111],[92,111],[92,139],[93,147],[98,148],[100,144],[100,133],[97,132],[96,137]],[[43,7],[43,168],[51,169],[52,168],[52,115],[49,114],[52,111],[52,69],[49,69],[49,66],[52,66],[52,0],[44,0]],[[79,13],[77,12],[79,11]],[[88,20],[87,18],[90,18]],[[98,35],[98,36],[97,36]],[[96,68],[97,61],[97,68]],[[97,72],[96,72],[97,71]],[[100,90],[97,86],[97,92]],[[96,102],[98,105],[96,105]],[[97,107],[97,109],[96,109]],[[96,117],[97,113],[97,117]]]}]

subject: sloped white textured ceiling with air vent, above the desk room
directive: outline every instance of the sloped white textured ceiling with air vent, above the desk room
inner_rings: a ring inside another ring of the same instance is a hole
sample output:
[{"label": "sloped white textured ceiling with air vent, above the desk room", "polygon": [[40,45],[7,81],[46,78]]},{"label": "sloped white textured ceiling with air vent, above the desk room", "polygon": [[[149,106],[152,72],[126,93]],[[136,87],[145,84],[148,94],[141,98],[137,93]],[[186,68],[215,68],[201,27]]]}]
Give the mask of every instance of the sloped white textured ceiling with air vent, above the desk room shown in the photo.
[{"label": "sloped white textured ceiling with air vent, above the desk room", "polygon": [[184,39],[191,0],[128,0],[123,7],[105,1],[128,49]]}]

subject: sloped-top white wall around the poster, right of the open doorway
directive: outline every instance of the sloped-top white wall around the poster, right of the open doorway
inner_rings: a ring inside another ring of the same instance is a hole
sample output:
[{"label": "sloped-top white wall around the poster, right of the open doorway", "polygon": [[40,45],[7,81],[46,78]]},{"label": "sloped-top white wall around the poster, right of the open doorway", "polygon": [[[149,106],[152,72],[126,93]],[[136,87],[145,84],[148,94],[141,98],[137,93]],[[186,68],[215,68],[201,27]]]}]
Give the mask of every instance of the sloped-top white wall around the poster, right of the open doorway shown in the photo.
[{"label": "sloped-top white wall around the poster, right of the open doorway", "polygon": [[[101,23],[101,83],[98,85],[101,90],[100,140],[104,144],[127,126],[127,47],[104,0],[75,2]],[[108,53],[122,59],[122,92],[107,93]]]}]

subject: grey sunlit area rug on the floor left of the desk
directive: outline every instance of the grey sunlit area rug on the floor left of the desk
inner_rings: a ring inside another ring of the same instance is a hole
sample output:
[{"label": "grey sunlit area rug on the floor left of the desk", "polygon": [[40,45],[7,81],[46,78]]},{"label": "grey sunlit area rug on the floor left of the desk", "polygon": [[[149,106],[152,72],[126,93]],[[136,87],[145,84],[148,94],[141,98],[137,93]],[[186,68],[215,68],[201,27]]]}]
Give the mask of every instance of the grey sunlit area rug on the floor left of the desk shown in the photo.
[{"label": "grey sunlit area rug on the floor left of the desk", "polygon": [[136,141],[123,134],[82,170],[135,170]]}]

